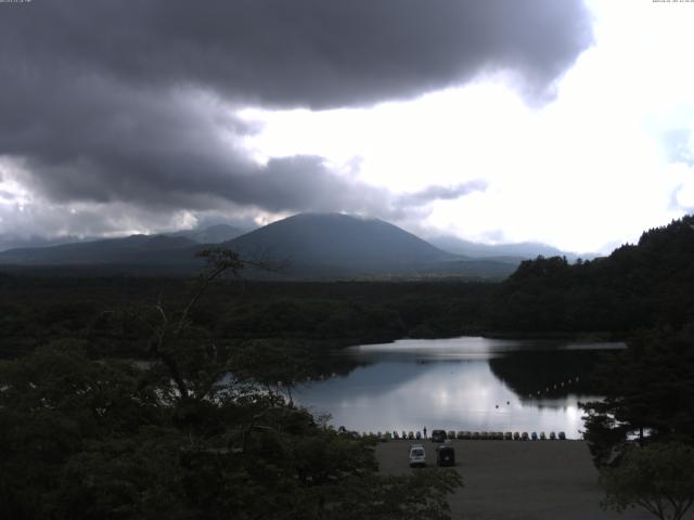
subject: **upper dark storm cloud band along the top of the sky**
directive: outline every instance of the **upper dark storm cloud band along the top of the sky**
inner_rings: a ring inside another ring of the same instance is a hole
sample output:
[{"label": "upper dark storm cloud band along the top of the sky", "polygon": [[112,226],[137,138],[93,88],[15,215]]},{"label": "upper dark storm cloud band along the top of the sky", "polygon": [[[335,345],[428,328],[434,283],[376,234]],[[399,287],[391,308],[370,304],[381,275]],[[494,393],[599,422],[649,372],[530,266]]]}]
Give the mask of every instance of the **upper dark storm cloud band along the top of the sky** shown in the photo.
[{"label": "upper dark storm cloud band along the top of the sky", "polygon": [[591,41],[581,0],[61,0],[4,6],[0,25],[15,65],[48,75],[191,82],[310,107],[414,95],[506,67],[540,92]]}]

